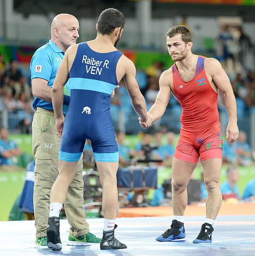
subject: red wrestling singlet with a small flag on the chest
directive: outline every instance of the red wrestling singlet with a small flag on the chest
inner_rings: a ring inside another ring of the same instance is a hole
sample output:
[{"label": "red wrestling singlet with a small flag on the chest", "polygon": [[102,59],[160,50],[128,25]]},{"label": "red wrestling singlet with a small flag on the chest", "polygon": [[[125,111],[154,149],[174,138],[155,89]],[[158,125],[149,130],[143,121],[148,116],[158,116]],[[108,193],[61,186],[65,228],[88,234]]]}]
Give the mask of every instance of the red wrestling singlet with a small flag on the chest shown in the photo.
[{"label": "red wrestling singlet with a small flag on the chest", "polygon": [[195,76],[183,81],[179,70],[172,66],[174,94],[182,107],[180,138],[174,157],[197,163],[210,158],[222,158],[223,140],[217,108],[218,94],[206,77],[205,57],[199,56]]}]

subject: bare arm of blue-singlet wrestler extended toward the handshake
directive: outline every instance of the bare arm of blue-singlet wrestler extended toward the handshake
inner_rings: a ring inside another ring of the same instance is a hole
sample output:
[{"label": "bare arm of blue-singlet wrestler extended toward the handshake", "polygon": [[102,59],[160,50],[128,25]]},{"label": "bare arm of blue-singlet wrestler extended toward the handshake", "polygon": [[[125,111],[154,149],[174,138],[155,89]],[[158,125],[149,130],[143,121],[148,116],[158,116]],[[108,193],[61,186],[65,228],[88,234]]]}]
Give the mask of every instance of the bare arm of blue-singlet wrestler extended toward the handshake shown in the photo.
[{"label": "bare arm of blue-singlet wrestler extended toward the handshake", "polygon": [[[125,57],[126,58],[126,57]],[[136,67],[132,61],[127,59],[125,64],[125,81],[128,94],[131,98],[133,109],[143,121],[147,120],[147,109],[145,99],[136,81]]]}]

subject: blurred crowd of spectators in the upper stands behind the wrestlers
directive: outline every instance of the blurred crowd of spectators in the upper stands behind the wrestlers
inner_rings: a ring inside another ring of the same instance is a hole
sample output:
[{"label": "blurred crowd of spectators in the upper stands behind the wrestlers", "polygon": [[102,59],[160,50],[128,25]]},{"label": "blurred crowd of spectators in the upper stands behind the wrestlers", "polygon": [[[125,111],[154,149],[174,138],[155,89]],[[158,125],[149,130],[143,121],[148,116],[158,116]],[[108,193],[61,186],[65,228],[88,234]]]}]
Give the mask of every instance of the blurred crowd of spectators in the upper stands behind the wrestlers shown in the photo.
[{"label": "blurred crowd of spectators in the upper stands behind the wrestlers", "polygon": [[[183,23],[188,26],[187,20]],[[216,41],[217,50],[211,52],[211,56],[219,59],[226,70],[236,96],[238,106],[238,118],[255,112],[255,72],[247,67],[247,59],[254,55],[254,46],[242,27],[231,27],[224,25]],[[169,57],[170,58],[170,57]],[[145,70],[137,70],[136,79],[140,90],[145,96],[148,109],[154,104],[159,91],[159,77],[169,67],[159,60],[155,60]],[[128,124],[130,117],[134,116],[133,108],[125,88],[125,80],[120,81],[120,88],[116,90],[112,98],[110,108],[114,125],[120,120]],[[29,72],[24,72],[17,61],[6,63],[3,53],[0,53],[0,111],[6,109],[9,113],[16,115],[16,121],[11,124],[12,130],[17,129],[21,133],[29,133],[32,119],[32,90]],[[226,107],[221,93],[219,94],[218,109],[226,115]],[[181,107],[172,96],[166,109],[166,116],[180,118]],[[163,120],[163,119],[162,119]],[[162,120],[159,121],[162,124]],[[180,131],[180,122],[177,121],[175,132]],[[157,124],[155,124],[157,125]],[[159,127],[158,127],[159,128]],[[123,129],[122,129],[123,130]],[[125,130],[125,129],[124,129]],[[132,129],[128,131],[132,133]]]}]

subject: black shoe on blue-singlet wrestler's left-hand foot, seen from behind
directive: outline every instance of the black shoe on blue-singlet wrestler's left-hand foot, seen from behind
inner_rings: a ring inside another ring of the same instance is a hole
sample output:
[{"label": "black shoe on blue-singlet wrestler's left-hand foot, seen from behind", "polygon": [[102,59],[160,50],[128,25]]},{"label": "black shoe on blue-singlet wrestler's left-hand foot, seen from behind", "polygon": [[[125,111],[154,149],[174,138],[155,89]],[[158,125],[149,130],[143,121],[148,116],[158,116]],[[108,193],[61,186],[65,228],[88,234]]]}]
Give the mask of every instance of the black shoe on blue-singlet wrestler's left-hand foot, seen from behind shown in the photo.
[{"label": "black shoe on blue-singlet wrestler's left-hand foot, seen from behind", "polygon": [[52,250],[61,250],[62,243],[60,241],[59,233],[59,218],[49,217],[47,233],[47,246]]}]

